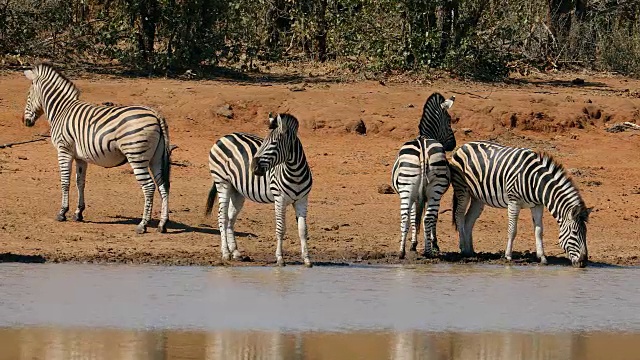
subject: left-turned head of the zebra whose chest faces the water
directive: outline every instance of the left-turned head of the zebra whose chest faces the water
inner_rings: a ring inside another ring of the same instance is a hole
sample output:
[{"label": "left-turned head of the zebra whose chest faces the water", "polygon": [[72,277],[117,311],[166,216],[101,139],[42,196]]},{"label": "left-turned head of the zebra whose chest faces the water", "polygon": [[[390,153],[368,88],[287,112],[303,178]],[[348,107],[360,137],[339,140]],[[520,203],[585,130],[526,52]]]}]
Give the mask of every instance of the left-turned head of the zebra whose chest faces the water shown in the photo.
[{"label": "left-turned head of the zebra whose chest faces the water", "polygon": [[293,153],[294,140],[298,136],[298,120],[289,114],[269,113],[271,132],[253,156],[251,169],[257,176],[264,176],[273,167],[282,164]]}]

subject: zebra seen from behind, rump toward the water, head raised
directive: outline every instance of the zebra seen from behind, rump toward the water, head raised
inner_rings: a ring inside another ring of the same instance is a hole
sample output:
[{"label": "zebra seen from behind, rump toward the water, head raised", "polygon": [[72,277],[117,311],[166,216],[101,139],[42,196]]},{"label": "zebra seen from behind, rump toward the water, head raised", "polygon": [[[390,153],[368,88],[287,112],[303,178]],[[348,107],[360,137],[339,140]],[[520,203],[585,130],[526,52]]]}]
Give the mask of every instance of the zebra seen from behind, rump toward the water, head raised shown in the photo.
[{"label": "zebra seen from behind, rump toward the water, head raised", "polygon": [[436,224],[440,198],[449,189],[450,173],[446,151],[456,146],[448,109],[455,97],[448,100],[433,93],[424,104],[418,126],[420,135],[402,145],[393,164],[391,183],[400,196],[400,259],[405,257],[405,243],[412,224],[411,251],[418,246],[420,221],[424,216],[424,256],[440,251],[436,237]]}]

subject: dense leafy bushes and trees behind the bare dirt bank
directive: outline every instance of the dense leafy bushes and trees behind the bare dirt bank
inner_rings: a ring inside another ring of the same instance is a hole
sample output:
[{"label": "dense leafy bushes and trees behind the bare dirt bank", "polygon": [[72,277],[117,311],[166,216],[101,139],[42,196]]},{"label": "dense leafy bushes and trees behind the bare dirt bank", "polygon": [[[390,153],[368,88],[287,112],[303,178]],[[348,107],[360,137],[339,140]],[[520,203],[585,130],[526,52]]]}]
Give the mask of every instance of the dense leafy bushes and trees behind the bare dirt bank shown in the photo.
[{"label": "dense leafy bushes and trees behind the bare dirt bank", "polygon": [[0,0],[0,56],[146,74],[333,61],[482,80],[639,75],[639,13],[637,0]]}]

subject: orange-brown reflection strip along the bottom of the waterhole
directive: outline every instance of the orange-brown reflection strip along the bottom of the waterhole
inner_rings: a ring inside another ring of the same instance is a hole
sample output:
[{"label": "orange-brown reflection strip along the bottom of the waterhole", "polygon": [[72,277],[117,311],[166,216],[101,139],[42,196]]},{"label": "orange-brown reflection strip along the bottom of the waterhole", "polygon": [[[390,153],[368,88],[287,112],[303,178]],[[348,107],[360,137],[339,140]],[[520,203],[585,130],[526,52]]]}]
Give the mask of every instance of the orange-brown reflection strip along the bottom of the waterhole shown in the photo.
[{"label": "orange-brown reflection strip along the bottom of the waterhole", "polygon": [[637,359],[640,333],[200,332],[0,329],[0,360]]}]

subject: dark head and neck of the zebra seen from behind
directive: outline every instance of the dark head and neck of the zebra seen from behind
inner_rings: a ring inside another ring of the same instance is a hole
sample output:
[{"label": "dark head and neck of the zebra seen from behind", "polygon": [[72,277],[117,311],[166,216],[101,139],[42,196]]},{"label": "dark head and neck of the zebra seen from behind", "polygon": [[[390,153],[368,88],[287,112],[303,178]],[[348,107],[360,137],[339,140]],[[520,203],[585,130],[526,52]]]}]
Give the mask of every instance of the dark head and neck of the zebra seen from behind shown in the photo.
[{"label": "dark head and neck of the zebra seen from behind", "polygon": [[451,115],[449,110],[456,97],[445,99],[440,93],[433,93],[424,103],[422,118],[418,130],[420,136],[435,139],[442,144],[445,151],[452,151],[456,147],[456,137],[451,129]]}]

